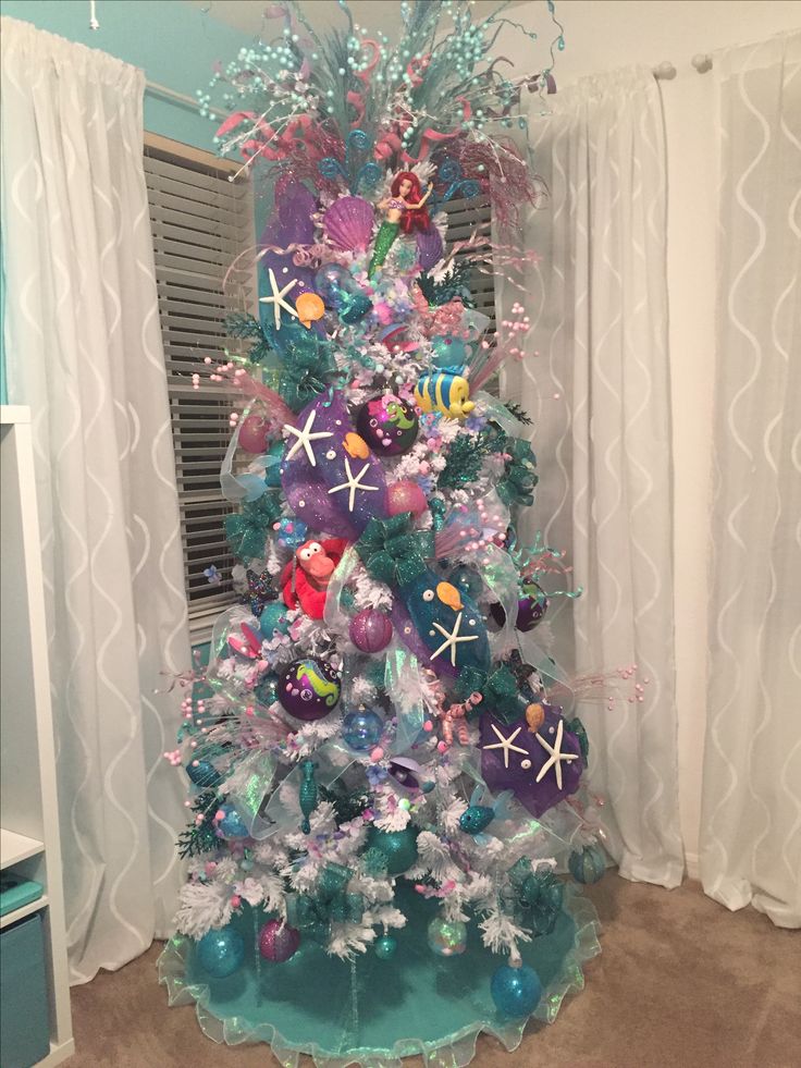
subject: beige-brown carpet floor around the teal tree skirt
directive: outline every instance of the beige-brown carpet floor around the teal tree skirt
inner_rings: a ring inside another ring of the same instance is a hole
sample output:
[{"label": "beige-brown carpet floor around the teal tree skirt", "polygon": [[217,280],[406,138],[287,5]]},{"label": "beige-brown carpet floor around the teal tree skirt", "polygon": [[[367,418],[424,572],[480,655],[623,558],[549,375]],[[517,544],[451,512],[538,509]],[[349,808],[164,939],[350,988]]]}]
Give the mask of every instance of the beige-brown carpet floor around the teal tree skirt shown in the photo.
[{"label": "beige-brown carpet floor around the teal tree skirt", "polygon": [[[728,912],[695,883],[668,892],[607,874],[588,894],[603,953],[586,989],[513,1054],[483,1035],[475,1068],[801,1066],[801,933],[752,909]],[[159,952],[73,990],[71,1068],[278,1068],[267,1046],[218,1046],[194,1007],[168,1008]]]}]

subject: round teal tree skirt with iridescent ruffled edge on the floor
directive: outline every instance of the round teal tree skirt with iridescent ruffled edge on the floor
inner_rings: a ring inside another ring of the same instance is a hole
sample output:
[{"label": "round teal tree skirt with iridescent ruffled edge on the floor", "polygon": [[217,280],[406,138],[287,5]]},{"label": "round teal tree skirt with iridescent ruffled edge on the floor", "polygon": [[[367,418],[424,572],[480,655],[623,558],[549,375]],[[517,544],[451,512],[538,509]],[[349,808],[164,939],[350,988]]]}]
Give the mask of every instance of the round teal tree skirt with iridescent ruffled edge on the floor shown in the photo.
[{"label": "round teal tree skirt with iridescent ruffled edge on the floor", "polygon": [[[583,986],[582,966],[600,953],[595,910],[574,887],[566,891],[553,933],[520,947],[543,987],[533,1018],[547,1022],[565,995]],[[401,1068],[402,1058],[414,1055],[429,1068],[463,1068],[481,1031],[514,1049],[528,1021],[504,1019],[490,996],[490,980],[505,958],[483,947],[476,924],[464,954],[435,956],[427,926],[438,914],[436,903],[406,883],[398,893],[408,922],[394,932],[398,947],[390,960],[368,949],[343,961],[308,938],[284,963],[262,960],[254,935],[264,916],[246,909],[236,921],[248,946],[238,972],[211,979],[196,959],[194,941],[178,936],[159,958],[160,982],[171,1005],[196,1003],[210,1039],[267,1042],[285,1068],[295,1068],[301,1053],[320,1068]]]}]

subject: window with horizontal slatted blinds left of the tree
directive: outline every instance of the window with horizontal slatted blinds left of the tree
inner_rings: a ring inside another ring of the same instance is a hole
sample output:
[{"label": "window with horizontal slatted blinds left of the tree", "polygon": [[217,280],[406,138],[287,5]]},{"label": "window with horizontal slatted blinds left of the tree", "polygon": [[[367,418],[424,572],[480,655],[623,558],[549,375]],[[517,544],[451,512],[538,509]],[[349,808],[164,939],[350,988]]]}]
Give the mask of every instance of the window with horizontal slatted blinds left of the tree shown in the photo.
[{"label": "window with horizontal slatted blinds left of the tree", "polygon": [[[220,492],[232,394],[206,376],[198,390],[192,383],[205,356],[218,361],[239,344],[225,335],[225,316],[234,306],[222,282],[231,262],[254,245],[255,237],[250,183],[245,176],[230,181],[236,169],[186,145],[146,137],[145,176],[194,643],[208,639],[214,618],[236,600],[231,584],[234,558],[223,526],[233,505]],[[237,299],[243,296],[251,310],[255,282],[239,290]],[[204,574],[212,564],[220,572],[220,585],[211,585]]]}]

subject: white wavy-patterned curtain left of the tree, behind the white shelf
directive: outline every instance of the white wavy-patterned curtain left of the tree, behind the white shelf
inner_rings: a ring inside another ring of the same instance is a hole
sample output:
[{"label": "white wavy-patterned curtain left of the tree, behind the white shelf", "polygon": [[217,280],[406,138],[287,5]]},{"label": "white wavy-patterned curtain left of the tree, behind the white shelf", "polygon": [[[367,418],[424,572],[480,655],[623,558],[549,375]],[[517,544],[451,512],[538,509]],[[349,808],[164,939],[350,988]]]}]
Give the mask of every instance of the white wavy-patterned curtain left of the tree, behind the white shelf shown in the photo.
[{"label": "white wavy-patterned curtain left of the tree, behind the white shelf", "polygon": [[9,400],[32,408],[74,982],[167,934],[189,664],[140,71],[2,20]]}]

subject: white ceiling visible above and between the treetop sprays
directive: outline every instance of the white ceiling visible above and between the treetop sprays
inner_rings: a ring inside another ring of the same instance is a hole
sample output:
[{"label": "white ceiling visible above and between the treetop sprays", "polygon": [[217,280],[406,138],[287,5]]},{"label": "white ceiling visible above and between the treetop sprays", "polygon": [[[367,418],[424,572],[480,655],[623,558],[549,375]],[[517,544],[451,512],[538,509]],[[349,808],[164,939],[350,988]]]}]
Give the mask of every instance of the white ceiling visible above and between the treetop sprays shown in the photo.
[{"label": "white ceiling visible above and between the treetop sprays", "polygon": [[[185,0],[220,22],[241,29],[248,36],[258,35],[264,26],[262,12],[269,0]],[[533,0],[513,0],[508,8],[519,7]],[[336,0],[306,0],[300,4],[304,14],[315,28],[342,25],[343,15]],[[387,36],[401,27],[401,4],[397,0],[348,0],[354,22],[368,29],[383,29]],[[484,17],[501,7],[500,0],[472,0],[473,19]],[[508,10],[508,9],[507,9]],[[279,26],[276,20],[270,20]]]}]

